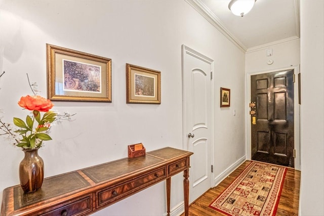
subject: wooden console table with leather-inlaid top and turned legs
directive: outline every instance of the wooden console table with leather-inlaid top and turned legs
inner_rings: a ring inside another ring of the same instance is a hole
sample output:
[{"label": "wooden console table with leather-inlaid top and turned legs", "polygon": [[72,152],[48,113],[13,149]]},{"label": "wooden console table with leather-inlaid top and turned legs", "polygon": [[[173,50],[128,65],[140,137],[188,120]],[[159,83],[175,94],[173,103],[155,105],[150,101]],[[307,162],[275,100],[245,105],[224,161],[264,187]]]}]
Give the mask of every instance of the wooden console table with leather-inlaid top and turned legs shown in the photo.
[{"label": "wooden console table with leather-inlaid top and turned legs", "polygon": [[89,215],[158,182],[167,183],[170,215],[171,177],[184,172],[184,208],[188,215],[189,159],[192,152],[163,148],[44,179],[36,192],[20,185],[3,192],[1,215]]}]

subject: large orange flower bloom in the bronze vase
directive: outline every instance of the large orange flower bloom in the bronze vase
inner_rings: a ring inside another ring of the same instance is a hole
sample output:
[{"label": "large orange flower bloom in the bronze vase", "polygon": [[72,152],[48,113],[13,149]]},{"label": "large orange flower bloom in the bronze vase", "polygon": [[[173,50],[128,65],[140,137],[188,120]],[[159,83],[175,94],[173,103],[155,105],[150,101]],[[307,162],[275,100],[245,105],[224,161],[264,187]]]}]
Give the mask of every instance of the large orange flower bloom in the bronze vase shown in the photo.
[{"label": "large orange flower bloom in the bronze vase", "polygon": [[37,110],[39,112],[48,112],[54,106],[50,100],[39,95],[27,95],[25,97],[21,97],[20,101],[18,101],[18,105],[25,109]]}]

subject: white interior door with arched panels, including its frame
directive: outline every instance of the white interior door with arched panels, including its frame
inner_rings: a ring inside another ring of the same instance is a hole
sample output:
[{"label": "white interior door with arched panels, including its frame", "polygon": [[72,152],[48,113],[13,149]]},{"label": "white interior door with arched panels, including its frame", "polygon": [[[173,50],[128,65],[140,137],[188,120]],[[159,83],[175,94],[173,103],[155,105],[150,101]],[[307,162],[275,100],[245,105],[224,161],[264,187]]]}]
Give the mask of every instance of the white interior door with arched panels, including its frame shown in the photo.
[{"label": "white interior door with arched panels, including its frame", "polygon": [[182,46],[184,149],[193,152],[189,169],[189,202],[213,186],[212,71],[214,61]]}]

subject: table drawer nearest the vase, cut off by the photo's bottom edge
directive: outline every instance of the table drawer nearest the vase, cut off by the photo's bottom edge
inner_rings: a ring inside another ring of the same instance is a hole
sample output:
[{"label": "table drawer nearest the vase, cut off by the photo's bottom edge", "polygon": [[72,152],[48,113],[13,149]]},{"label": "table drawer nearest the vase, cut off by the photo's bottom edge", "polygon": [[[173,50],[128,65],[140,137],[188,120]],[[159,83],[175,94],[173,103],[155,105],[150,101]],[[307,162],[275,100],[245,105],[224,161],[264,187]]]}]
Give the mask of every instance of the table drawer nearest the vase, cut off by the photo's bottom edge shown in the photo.
[{"label": "table drawer nearest the vase, cut off by the photo's bottom edge", "polygon": [[64,206],[47,213],[43,216],[76,216],[84,215],[92,211],[92,194],[88,196],[71,200],[63,204]]}]

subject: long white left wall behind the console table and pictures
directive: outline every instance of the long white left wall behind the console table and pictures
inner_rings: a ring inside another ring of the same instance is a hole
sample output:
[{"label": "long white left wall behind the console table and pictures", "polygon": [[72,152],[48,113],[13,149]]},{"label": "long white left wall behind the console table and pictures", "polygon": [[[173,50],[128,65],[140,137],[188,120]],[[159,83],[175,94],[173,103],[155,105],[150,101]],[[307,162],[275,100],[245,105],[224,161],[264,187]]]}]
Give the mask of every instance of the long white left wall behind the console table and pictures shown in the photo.
[{"label": "long white left wall behind the console table and pictures", "polygon": [[[4,121],[25,117],[18,107],[36,81],[46,97],[46,44],[112,59],[112,103],[54,102],[75,120],[51,129],[39,154],[45,176],[127,157],[127,145],[147,151],[182,148],[181,45],[215,60],[215,175],[245,155],[245,56],[184,1],[1,1],[0,108]],[[125,64],[161,71],[161,104],[126,104]],[[219,88],[231,89],[231,107],[219,108]],[[236,115],[233,115],[236,109]],[[23,153],[0,137],[0,196],[19,184]],[[172,180],[171,207],[183,202],[182,175]],[[154,194],[154,196],[152,196]],[[1,198],[0,198],[1,199]],[[161,215],[159,183],[97,215]]]}]

